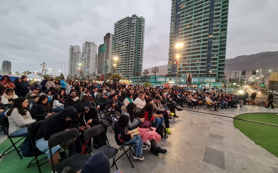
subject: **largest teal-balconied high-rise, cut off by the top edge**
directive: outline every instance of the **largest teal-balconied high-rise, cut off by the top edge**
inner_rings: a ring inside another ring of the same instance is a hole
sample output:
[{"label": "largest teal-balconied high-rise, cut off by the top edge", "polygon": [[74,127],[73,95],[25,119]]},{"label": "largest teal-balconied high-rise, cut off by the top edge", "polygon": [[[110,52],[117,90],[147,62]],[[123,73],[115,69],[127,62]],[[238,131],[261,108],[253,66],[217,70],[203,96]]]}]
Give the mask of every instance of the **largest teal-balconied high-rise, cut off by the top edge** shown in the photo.
[{"label": "largest teal-balconied high-rise, cut off by the top edge", "polygon": [[[224,82],[229,0],[172,0],[168,76]],[[182,43],[182,44],[180,44]],[[211,83],[210,82],[210,83]]]}]

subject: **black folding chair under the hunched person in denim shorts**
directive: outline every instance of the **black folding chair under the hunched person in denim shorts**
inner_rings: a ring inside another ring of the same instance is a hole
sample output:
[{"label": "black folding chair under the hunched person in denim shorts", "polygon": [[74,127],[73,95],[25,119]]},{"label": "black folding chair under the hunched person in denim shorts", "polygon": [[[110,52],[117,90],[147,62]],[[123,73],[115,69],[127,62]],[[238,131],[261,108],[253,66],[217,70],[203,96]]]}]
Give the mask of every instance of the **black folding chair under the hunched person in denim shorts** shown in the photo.
[{"label": "black folding chair under the hunched person in denim shorts", "polygon": [[[45,161],[43,163],[39,163],[40,161],[48,158],[47,156],[46,157],[43,157],[41,159],[38,160],[38,156],[40,156],[41,154],[43,154],[41,151],[39,151],[39,149],[36,147],[36,140],[35,140],[35,137],[36,137],[36,134],[37,134],[37,131],[39,130],[39,128],[41,127],[43,121],[37,121],[37,122],[34,122],[34,123],[31,123],[27,126],[27,129],[28,129],[28,133],[29,133],[29,137],[31,138],[31,145],[32,145],[32,149],[33,149],[33,154],[34,154],[34,159],[31,160],[31,162],[28,164],[27,167],[30,167],[31,165],[33,164],[36,164],[37,163],[37,166],[38,166],[38,169],[39,169],[39,173],[41,173],[41,166],[45,163],[48,162]],[[36,162],[32,163],[34,160],[36,160]]]}]

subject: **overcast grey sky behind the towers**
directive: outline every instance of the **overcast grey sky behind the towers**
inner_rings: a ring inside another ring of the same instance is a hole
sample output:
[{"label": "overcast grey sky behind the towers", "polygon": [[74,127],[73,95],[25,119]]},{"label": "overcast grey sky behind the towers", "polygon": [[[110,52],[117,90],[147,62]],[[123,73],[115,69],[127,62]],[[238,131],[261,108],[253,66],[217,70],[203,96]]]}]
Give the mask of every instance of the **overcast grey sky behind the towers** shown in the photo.
[{"label": "overcast grey sky behind the towers", "polygon": [[[226,58],[278,50],[277,0],[229,2]],[[103,43],[114,23],[136,14],[146,19],[143,69],[167,64],[171,0],[1,1],[0,60],[12,71],[36,68],[46,62],[56,74],[69,45]]]}]

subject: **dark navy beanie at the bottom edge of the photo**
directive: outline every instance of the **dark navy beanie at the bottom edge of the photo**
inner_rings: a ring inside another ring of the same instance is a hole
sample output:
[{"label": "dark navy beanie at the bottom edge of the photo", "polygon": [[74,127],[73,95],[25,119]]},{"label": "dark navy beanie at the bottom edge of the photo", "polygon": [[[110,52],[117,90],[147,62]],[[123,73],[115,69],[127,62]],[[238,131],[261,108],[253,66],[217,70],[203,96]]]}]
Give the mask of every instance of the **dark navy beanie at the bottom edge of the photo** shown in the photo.
[{"label": "dark navy beanie at the bottom edge of the photo", "polygon": [[91,156],[83,165],[81,173],[110,173],[110,162],[107,156],[100,151]]}]

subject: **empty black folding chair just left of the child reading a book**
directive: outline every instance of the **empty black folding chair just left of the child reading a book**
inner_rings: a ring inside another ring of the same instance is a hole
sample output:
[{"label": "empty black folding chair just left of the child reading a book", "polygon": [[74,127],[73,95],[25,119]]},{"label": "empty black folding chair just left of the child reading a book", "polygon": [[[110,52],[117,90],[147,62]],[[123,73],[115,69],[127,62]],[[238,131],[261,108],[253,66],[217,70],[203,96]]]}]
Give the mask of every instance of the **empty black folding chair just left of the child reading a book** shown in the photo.
[{"label": "empty black folding chair just left of the child reading a book", "polygon": [[[87,149],[89,150],[87,140],[91,139],[91,138],[93,138],[97,135],[100,135],[100,134],[105,135],[108,145],[101,146],[100,148],[96,149],[92,154],[96,154],[99,151],[103,151],[104,154],[108,157],[108,159],[113,158],[112,166],[115,164],[116,169],[118,170],[118,167],[117,167],[116,162],[115,162],[115,155],[118,153],[118,149],[116,149],[115,147],[110,146],[109,141],[107,139],[107,136],[105,134],[104,127],[102,125],[96,125],[94,127],[88,128],[84,131],[84,138],[86,140]],[[91,156],[90,151],[89,151],[89,156]]]}]

